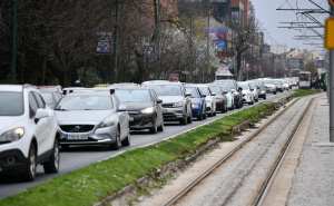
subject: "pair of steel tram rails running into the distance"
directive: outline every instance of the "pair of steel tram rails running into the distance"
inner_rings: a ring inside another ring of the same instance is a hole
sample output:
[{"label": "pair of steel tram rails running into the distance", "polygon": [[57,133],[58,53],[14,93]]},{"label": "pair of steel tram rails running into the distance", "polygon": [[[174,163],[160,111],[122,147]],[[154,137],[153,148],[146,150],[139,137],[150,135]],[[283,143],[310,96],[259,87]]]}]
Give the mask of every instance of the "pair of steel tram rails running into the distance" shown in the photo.
[{"label": "pair of steel tram rails running into the distance", "polygon": [[[315,97],[314,97],[315,98]],[[305,107],[305,109],[303,110],[303,115],[301,116],[301,118],[297,120],[297,124],[295,124],[295,127],[293,129],[293,131],[291,133],[288,139],[286,140],[286,144],[284,146],[284,148],[282,149],[281,155],[278,156],[276,164],[274,164],[273,168],[271,169],[271,171],[268,173],[268,178],[266,178],[265,183],[263,184],[263,187],[261,188],[259,195],[257,197],[255,197],[254,199],[256,199],[254,203],[254,205],[261,205],[263,198],[266,195],[267,188],[271,186],[271,182],[274,178],[275,174],[277,173],[277,169],[281,166],[282,160],[284,159],[286,151],[288,150],[291,144],[293,143],[294,136],[297,133],[301,124],[303,122],[303,119],[305,118],[305,115],[308,111],[308,108],[311,106],[311,104],[313,102],[313,99],[308,101],[307,106]],[[238,144],[237,146],[235,146],[235,148],[233,148],[228,154],[226,154],[225,156],[223,156],[219,160],[217,160],[215,164],[213,164],[209,168],[207,168],[204,173],[202,173],[200,175],[198,175],[194,180],[191,180],[188,185],[186,185],[185,187],[183,187],[179,192],[177,192],[173,197],[170,197],[167,202],[165,202],[163,205],[174,205],[187,195],[187,193],[189,190],[191,190],[196,185],[198,185],[203,179],[205,179],[207,176],[209,176],[212,174],[213,170],[215,170],[217,167],[219,167],[222,164],[224,164],[227,159],[229,159],[232,156],[234,156],[242,147],[244,147],[248,141],[250,141],[252,139],[254,139],[256,136],[258,136],[258,134],[261,134],[262,131],[264,131],[268,126],[271,126],[278,117],[281,117],[282,115],[284,115],[286,111],[288,111],[289,108],[292,108],[296,102],[298,102],[301,99],[294,99],[288,106],[286,106],[286,108],[281,111],[279,114],[275,115],[273,118],[271,118],[265,125],[263,125],[262,127],[259,127],[258,129],[256,129],[252,135],[249,135],[247,138],[245,138],[240,144]]]}]

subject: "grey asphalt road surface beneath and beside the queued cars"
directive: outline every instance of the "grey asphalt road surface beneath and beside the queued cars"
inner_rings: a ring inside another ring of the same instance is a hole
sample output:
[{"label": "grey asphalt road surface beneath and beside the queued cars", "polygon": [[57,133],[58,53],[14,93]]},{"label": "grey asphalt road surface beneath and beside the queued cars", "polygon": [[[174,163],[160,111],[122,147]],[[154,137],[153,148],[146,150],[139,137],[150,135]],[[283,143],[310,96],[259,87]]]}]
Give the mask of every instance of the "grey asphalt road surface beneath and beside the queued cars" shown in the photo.
[{"label": "grey asphalt road surface beneath and beside the queued cars", "polygon": [[[286,92],[286,91],[284,91]],[[284,94],[283,92],[283,94]],[[267,94],[267,99],[273,99],[277,96],[282,95],[282,92],[277,92],[277,95]],[[259,99],[255,105],[263,102],[263,99]],[[250,106],[244,105],[242,109],[248,108]],[[185,126],[179,125],[178,122],[165,122],[165,130],[163,133],[149,134],[148,130],[143,131],[131,131],[131,145],[129,147],[121,147],[119,150],[108,150],[108,147],[70,147],[68,150],[61,151],[60,154],[60,170],[58,174],[48,174],[43,173],[42,166],[38,166],[37,176],[35,182],[32,183],[21,183],[18,178],[8,178],[0,177],[0,199],[18,194],[29,187],[42,184],[47,180],[53,179],[55,177],[65,175],[69,171],[73,171],[76,169],[86,167],[91,163],[97,163],[106,158],[110,158],[120,153],[124,153],[129,149],[134,149],[137,147],[143,147],[145,145],[149,145],[163,139],[166,139],[170,136],[175,136],[177,134],[185,133],[188,129],[194,129],[202,125],[205,125],[215,119],[219,119],[226,115],[230,115],[237,112],[240,109],[229,110],[226,114],[218,112],[215,117],[208,117],[205,120],[198,121],[195,120],[193,124],[188,124]]]}]

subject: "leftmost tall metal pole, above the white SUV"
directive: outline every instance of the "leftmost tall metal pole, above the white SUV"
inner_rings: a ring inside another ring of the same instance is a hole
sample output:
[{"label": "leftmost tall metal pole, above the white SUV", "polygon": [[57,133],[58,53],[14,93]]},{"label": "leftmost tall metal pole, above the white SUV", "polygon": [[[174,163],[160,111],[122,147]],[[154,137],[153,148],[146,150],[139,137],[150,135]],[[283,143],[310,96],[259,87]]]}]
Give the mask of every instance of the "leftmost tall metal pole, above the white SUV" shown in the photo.
[{"label": "leftmost tall metal pole, above the white SUV", "polygon": [[16,84],[17,67],[17,0],[12,0],[11,6],[11,48],[10,48],[10,84]]}]

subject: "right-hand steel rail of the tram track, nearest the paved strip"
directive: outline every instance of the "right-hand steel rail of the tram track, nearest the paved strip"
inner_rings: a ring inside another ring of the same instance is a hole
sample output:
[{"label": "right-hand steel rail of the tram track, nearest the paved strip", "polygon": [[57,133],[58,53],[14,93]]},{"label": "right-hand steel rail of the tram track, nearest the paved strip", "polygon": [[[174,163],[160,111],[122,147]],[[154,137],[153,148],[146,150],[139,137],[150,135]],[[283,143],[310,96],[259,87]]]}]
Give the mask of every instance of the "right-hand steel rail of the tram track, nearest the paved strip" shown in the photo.
[{"label": "right-hand steel rail of the tram track, nearest the paved strip", "polygon": [[275,178],[276,174],[278,173],[278,169],[281,168],[281,166],[282,166],[282,164],[283,164],[283,161],[284,161],[284,159],[285,159],[285,157],[286,157],[286,155],[287,155],[287,153],[288,153],[288,150],[289,150],[289,148],[292,146],[292,144],[294,143],[294,139],[295,139],[297,133],[299,131],[299,128],[303,125],[306,115],[308,114],[310,106],[312,105],[312,102],[313,102],[313,100],[316,97],[312,98],[308,101],[306,108],[304,109],[303,116],[297,121],[297,124],[295,126],[295,129],[291,134],[287,143],[285,144],[285,146],[284,146],[284,148],[282,150],[281,156],[277,158],[277,161],[276,161],[275,166],[272,168],[272,171],[271,171],[269,176],[267,177],[267,179],[266,179],[266,182],[264,184],[264,187],[262,188],[262,190],[261,190],[257,199],[255,200],[255,204],[254,204],[255,206],[261,206],[263,204],[263,202],[265,200],[266,195],[268,194],[268,190],[269,190],[269,188],[271,188],[271,186],[272,186],[272,184],[274,182],[274,178]]}]

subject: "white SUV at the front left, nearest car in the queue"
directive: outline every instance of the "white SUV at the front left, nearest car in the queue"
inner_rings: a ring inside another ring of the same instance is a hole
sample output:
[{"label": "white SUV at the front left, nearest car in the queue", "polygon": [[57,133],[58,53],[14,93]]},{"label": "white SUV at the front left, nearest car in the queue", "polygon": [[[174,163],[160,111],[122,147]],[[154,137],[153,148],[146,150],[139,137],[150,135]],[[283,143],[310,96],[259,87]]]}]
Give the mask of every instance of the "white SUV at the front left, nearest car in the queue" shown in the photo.
[{"label": "white SUV at the front left, nearest car in the queue", "polygon": [[0,175],[33,180],[37,164],[59,170],[59,135],[55,111],[30,85],[0,85]]}]

